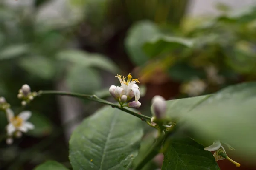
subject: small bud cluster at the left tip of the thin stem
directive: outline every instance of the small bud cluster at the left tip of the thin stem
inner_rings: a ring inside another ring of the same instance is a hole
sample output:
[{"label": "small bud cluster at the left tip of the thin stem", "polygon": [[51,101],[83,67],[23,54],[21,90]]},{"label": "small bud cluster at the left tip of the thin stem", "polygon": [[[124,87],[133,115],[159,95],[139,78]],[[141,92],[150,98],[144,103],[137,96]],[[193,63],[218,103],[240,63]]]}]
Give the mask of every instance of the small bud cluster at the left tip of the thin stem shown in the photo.
[{"label": "small bud cluster at the left tip of the thin stem", "polygon": [[17,97],[19,99],[22,99],[21,105],[26,106],[37,95],[37,92],[31,92],[29,85],[25,84],[19,90],[19,94],[17,95]]}]

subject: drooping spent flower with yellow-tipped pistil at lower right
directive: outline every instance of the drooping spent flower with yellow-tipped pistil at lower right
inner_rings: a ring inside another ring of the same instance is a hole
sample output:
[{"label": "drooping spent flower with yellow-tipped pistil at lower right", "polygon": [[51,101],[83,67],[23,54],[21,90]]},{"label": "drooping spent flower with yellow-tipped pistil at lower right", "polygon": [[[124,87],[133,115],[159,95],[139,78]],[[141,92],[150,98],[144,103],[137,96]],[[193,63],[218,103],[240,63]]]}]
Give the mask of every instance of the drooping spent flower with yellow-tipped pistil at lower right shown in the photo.
[{"label": "drooping spent flower with yellow-tipped pistil at lower right", "polygon": [[[233,147],[230,147],[229,144],[226,144],[230,150],[235,150]],[[213,156],[215,158],[215,161],[218,161],[218,160],[223,160],[223,159],[227,159],[229,161],[231,161],[233,164],[236,165],[236,167],[240,167],[240,164],[237,163],[236,161],[233,161],[232,159],[230,159],[228,156],[227,156],[227,153],[224,149],[223,146],[221,146],[221,142],[220,141],[216,141],[214,142],[212,145],[208,146],[208,147],[205,147],[204,150],[208,150],[210,152],[214,152]]]}]

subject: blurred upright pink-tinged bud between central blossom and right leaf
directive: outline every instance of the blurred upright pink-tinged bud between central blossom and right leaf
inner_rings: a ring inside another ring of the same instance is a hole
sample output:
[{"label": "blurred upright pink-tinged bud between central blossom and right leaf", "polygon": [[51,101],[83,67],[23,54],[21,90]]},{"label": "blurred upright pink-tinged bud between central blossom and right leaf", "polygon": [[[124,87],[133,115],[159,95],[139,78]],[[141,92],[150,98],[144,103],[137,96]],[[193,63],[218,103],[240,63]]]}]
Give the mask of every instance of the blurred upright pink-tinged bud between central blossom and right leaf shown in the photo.
[{"label": "blurred upright pink-tinged bud between central blossom and right leaf", "polygon": [[152,99],[152,113],[157,119],[162,119],[166,115],[166,101],[162,96],[154,96]]}]

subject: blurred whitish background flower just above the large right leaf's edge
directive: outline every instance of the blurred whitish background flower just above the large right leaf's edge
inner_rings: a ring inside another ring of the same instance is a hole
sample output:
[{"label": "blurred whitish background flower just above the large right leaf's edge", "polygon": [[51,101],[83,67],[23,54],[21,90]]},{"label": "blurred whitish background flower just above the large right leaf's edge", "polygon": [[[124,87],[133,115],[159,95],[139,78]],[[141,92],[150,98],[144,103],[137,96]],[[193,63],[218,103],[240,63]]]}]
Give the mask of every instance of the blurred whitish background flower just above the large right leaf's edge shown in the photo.
[{"label": "blurred whitish background flower just above the large right leaf's edge", "polygon": [[201,79],[193,79],[190,82],[183,84],[181,91],[189,96],[198,96],[207,88],[207,84]]}]

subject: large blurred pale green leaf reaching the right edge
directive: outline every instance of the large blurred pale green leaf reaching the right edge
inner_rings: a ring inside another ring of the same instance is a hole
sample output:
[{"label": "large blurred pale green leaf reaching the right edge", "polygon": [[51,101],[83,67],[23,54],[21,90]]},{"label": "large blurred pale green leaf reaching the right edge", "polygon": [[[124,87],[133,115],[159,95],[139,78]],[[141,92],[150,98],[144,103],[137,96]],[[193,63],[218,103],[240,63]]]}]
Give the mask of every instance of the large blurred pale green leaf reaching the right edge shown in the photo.
[{"label": "large blurred pale green leaf reaching the right edge", "polygon": [[247,161],[256,156],[256,82],[233,85],[211,96],[167,101],[168,117],[185,122],[206,142],[221,140],[243,154]]}]

